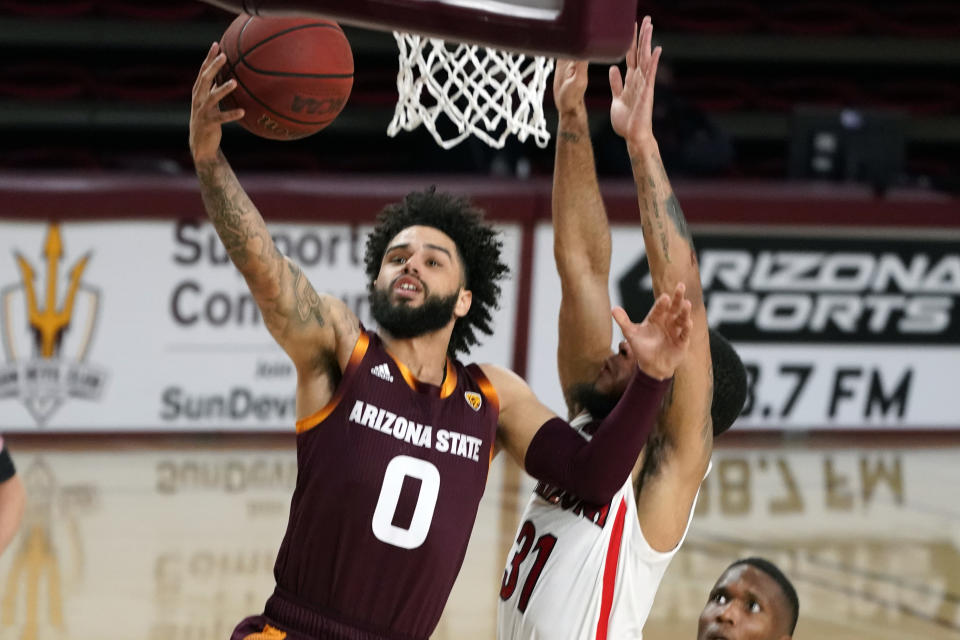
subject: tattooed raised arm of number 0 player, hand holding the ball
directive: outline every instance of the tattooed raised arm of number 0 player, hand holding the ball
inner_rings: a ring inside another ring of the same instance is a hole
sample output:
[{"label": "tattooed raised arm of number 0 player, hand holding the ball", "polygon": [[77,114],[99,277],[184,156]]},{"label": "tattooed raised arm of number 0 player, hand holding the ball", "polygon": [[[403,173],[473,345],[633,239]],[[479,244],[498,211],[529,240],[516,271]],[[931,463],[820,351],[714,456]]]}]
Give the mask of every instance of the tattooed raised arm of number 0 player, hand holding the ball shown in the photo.
[{"label": "tattooed raised arm of number 0 player, hand holding the ball", "polygon": [[226,56],[214,43],[193,86],[190,151],[200,193],[230,259],[260,307],[264,323],[303,378],[318,362],[328,362],[334,352],[342,365],[356,341],[359,324],[340,300],[319,295],[300,267],[280,253],[263,217],[220,150],[222,125],[243,117],[242,109],[221,111],[218,106],[236,88],[232,79],[222,85],[216,83],[225,62]]}]

